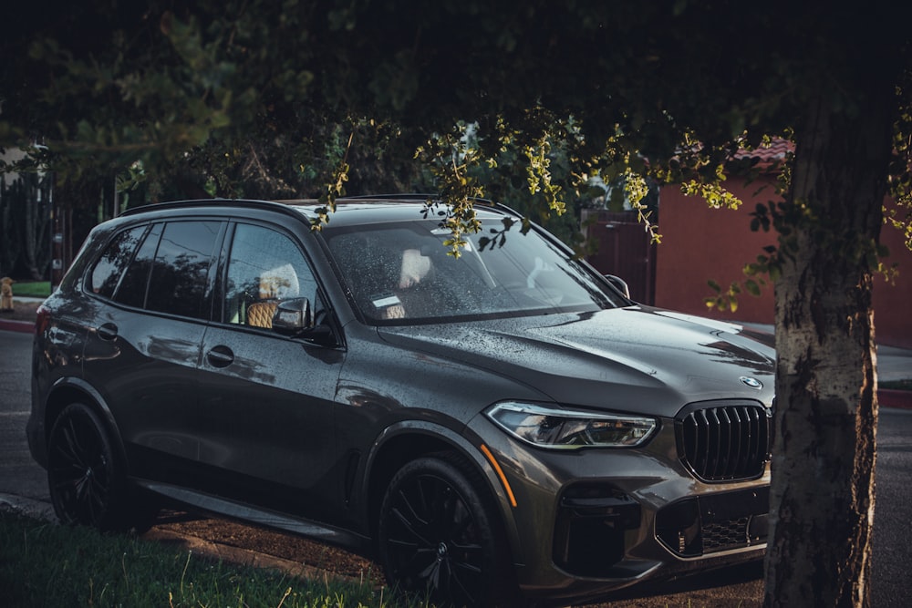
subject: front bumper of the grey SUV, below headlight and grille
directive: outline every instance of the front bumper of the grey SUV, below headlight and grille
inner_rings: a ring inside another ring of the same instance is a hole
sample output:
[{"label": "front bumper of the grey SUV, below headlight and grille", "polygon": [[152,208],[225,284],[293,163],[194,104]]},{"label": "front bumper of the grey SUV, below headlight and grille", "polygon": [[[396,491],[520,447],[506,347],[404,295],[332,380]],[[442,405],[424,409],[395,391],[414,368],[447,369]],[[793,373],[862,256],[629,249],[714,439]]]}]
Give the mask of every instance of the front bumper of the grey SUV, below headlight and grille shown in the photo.
[{"label": "front bumper of the grey SUV, below headlight and grille", "polygon": [[769,465],[709,483],[679,460],[663,420],[643,448],[555,451],[476,428],[516,499],[504,507],[517,579],[530,598],[580,601],[647,579],[762,559]]}]

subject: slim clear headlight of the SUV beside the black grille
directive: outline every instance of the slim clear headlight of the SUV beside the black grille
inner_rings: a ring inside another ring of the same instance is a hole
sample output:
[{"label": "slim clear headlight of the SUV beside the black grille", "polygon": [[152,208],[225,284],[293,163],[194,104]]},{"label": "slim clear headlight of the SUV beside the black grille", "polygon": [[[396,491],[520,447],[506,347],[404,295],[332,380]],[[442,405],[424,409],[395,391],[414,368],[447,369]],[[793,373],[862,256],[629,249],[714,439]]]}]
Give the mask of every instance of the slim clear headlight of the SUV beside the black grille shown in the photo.
[{"label": "slim clear headlight of the SUV beside the black grille", "polygon": [[631,448],[652,436],[656,420],[623,414],[503,401],[485,410],[500,428],[540,448]]}]

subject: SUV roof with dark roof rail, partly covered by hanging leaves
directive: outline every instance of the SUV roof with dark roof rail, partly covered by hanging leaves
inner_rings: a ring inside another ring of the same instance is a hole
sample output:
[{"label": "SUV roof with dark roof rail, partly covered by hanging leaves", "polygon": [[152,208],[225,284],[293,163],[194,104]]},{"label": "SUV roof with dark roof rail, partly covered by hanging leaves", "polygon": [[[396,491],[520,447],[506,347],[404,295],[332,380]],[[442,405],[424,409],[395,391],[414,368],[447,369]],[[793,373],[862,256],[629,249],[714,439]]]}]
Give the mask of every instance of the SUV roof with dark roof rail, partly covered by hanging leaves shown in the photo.
[{"label": "SUV roof with dark roof rail, partly covered by hanging leaves", "polygon": [[[329,227],[351,226],[378,222],[408,222],[423,218],[423,211],[428,201],[437,197],[425,194],[379,195],[345,197],[336,200],[336,211],[329,213]],[[519,214],[503,205],[477,199],[473,201],[479,219],[501,218],[505,215],[519,217]],[[170,201],[151,203],[124,211],[122,215],[139,215],[156,211],[212,211],[213,209],[243,209],[255,211],[278,211],[300,217],[308,222],[319,217],[326,204],[316,199],[292,199],[263,201],[254,199],[198,199],[192,201]],[[434,219],[437,211],[431,211],[429,219]]]}]

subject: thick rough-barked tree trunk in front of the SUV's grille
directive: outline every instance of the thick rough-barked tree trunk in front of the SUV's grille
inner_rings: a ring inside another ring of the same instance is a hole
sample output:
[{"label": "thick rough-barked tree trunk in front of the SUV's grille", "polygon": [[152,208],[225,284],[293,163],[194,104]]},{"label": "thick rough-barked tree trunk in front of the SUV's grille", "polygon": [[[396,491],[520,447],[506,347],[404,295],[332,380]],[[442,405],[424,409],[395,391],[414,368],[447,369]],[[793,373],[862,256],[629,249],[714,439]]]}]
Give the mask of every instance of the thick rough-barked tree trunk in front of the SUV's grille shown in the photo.
[{"label": "thick rough-barked tree trunk in front of the SUV's grille", "polygon": [[[870,84],[870,83],[865,83]],[[823,88],[821,88],[823,89]],[[891,88],[820,92],[797,132],[776,281],[776,440],[765,606],[868,606],[876,463],[873,247]]]}]

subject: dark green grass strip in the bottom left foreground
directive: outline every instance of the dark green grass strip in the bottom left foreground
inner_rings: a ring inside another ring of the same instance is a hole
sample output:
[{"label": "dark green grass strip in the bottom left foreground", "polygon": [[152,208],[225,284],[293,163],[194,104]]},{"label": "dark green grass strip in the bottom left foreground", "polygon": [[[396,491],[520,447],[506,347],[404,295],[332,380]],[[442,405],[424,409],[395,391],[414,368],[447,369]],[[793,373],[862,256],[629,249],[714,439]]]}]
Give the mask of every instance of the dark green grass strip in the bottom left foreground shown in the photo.
[{"label": "dark green grass strip in the bottom left foreground", "polygon": [[306,581],[214,562],[189,551],[0,512],[5,606],[425,606],[383,597],[372,582]]}]

